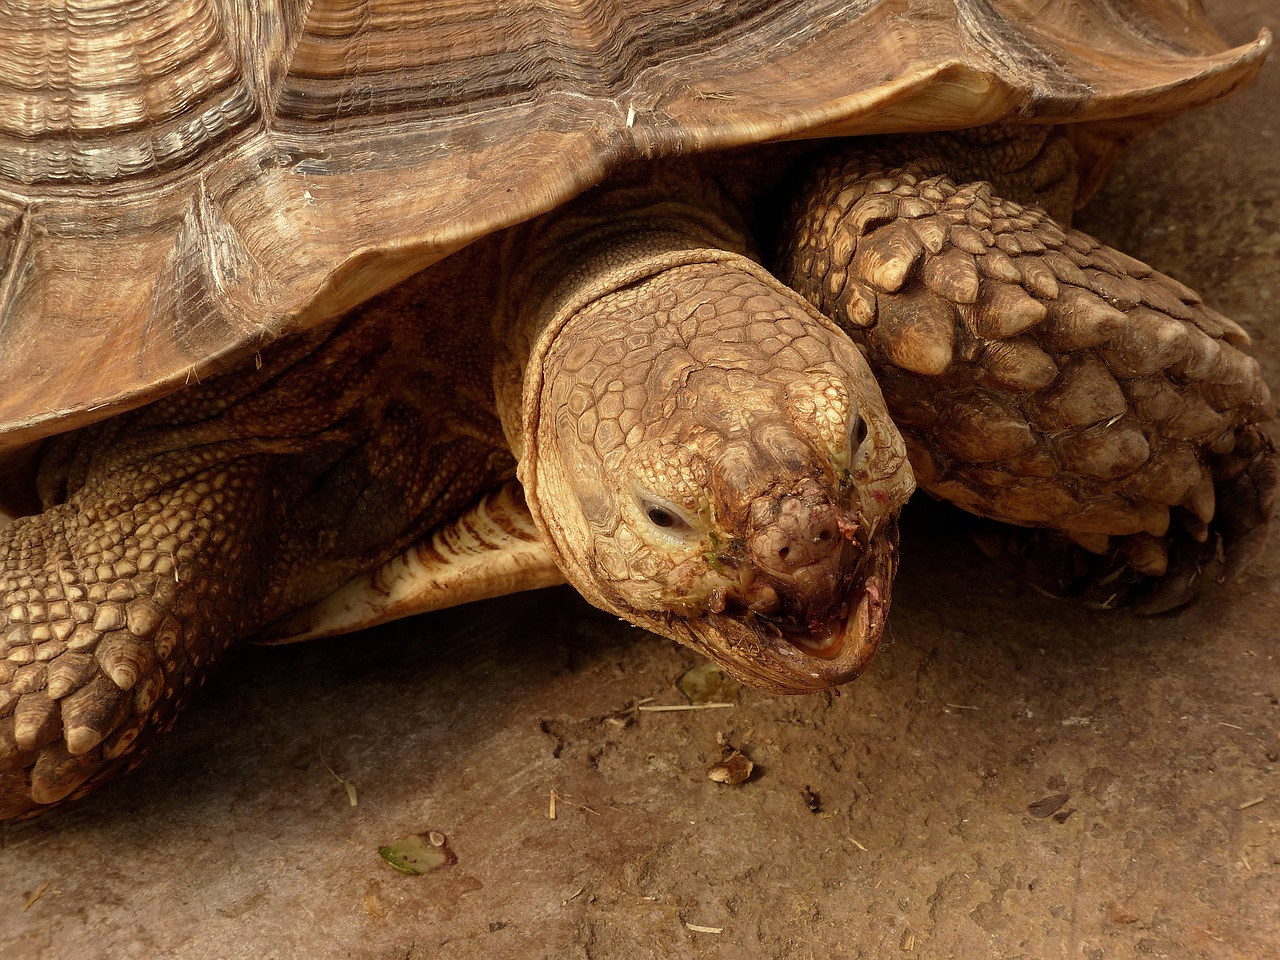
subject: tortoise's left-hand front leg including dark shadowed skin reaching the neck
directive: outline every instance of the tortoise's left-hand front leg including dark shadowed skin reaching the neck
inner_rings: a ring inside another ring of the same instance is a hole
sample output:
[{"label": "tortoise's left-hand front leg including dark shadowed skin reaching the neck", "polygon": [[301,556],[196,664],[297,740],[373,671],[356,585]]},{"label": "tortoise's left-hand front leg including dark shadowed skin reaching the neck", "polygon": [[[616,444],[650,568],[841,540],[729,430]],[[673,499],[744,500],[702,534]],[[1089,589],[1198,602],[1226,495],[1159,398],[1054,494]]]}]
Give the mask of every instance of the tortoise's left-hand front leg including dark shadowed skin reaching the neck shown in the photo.
[{"label": "tortoise's left-hand front leg including dark shadowed skin reaching the neck", "polygon": [[230,643],[511,477],[397,297],[44,452],[45,512],[0,529],[0,819],[137,764]]}]

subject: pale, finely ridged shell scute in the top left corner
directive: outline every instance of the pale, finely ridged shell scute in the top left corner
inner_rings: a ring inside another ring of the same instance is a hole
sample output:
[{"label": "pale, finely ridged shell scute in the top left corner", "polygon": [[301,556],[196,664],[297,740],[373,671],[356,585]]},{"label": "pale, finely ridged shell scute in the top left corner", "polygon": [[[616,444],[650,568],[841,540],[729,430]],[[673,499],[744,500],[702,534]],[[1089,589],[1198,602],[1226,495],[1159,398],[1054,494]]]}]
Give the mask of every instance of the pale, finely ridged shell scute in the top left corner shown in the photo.
[{"label": "pale, finely ridged shell scute in the top left corner", "polygon": [[224,5],[106,8],[10,8],[0,24],[0,179],[111,184],[164,173],[260,115]]}]

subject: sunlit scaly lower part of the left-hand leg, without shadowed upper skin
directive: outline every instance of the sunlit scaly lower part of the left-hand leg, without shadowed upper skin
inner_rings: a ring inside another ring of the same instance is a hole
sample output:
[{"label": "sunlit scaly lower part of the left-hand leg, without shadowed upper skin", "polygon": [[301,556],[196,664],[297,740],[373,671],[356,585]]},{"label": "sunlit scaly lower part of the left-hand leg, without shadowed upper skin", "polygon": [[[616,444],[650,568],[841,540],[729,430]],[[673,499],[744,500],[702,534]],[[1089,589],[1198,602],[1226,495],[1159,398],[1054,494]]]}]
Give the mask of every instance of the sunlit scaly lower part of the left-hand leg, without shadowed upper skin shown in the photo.
[{"label": "sunlit scaly lower part of the left-hand leg, without shadowed upper skin", "polygon": [[256,614],[265,461],[168,460],[0,530],[0,819],[134,765]]}]

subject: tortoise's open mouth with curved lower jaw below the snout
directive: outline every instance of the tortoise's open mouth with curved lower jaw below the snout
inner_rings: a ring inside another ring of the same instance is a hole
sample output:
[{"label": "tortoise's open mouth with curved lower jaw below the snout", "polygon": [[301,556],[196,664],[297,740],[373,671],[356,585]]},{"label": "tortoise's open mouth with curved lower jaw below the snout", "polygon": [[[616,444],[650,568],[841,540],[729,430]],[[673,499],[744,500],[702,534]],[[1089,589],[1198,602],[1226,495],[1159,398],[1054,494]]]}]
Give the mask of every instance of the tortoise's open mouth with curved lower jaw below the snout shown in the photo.
[{"label": "tortoise's open mouth with curved lower jaw below the snout", "polygon": [[826,612],[801,622],[727,607],[707,614],[703,622],[712,630],[699,631],[695,645],[742,682],[774,692],[806,694],[846,684],[879,648],[896,568],[897,521],[888,518]]}]

